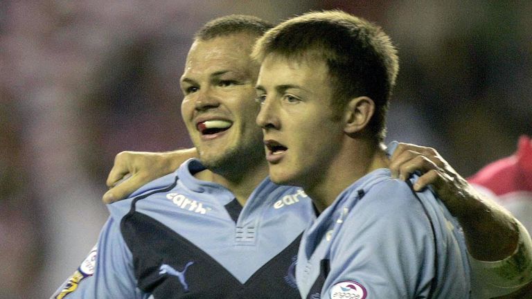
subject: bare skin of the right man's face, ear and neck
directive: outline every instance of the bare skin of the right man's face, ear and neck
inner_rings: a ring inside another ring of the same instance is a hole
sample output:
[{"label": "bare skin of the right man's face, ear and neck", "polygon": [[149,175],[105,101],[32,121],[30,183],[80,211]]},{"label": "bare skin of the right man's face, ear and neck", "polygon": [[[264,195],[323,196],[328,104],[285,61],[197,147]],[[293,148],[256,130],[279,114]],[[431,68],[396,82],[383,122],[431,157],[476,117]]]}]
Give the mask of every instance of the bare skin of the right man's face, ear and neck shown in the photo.
[{"label": "bare skin of the right man's face, ear and neck", "polygon": [[[360,97],[340,113],[332,109],[328,67],[312,58],[265,57],[257,81],[257,124],[263,128],[270,179],[301,186],[323,210],[353,181],[388,161],[369,138],[351,138],[365,131],[373,101]],[[278,144],[282,150],[269,146]]]}]

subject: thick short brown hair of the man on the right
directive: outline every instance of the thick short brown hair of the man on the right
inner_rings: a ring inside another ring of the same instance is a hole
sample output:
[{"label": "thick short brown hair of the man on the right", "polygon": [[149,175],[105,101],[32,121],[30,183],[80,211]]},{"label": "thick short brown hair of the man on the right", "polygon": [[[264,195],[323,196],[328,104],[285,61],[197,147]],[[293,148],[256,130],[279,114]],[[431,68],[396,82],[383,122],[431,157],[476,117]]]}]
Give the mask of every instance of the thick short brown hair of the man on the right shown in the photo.
[{"label": "thick short brown hair of the man on the right", "polygon": [[263,62],[275,53],[323,59],[332,77],[333,107],[368,96],[376,111],[369,129],[378,141],[386,134],[386,114],[399,70],[397,50],[379,26],[340,10],[308,12],[283,21],[258,39],[252,57]]}]

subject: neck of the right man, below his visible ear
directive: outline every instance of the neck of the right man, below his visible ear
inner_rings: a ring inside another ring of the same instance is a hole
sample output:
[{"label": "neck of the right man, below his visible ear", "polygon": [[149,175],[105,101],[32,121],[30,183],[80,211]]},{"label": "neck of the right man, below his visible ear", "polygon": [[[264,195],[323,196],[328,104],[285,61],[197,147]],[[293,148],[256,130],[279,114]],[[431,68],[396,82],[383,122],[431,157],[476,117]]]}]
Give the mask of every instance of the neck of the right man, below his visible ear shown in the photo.
[{"label": "neck of the right man, below his visible ear", "polygon": [[322,179],[303,186],[314,206],[323,212],[342,191],[362,176],[379,168],[387,168],[389,159],[384,145],[364,141],[349,141],[323,172]]}]

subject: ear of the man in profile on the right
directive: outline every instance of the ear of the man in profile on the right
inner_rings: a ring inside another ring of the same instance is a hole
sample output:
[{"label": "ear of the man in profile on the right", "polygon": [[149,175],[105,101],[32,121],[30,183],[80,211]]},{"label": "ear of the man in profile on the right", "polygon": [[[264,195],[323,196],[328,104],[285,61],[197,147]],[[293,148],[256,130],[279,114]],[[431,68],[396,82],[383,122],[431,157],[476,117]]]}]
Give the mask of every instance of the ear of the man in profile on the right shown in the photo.
[{"label": "ear of the man in profile on the right", "polygon": [[351,99],[344,111],[344,132],[355,134],[362,131],[375,113],[375,102],[366,96]]}]

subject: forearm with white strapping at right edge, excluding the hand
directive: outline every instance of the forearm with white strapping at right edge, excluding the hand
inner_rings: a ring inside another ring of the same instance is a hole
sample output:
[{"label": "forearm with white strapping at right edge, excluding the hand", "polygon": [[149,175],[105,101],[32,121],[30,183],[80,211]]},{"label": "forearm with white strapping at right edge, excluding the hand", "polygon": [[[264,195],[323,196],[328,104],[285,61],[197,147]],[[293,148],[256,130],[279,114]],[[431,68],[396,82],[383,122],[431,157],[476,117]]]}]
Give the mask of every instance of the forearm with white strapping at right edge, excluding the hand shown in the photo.
[{"label": "forearm with white strapping at right edge, excluding the hand", "polygon": [[465,188],[464,206],[454,211],[471,255],[472,298],[528,298],[520,295],[532,292],[529,233],[506,209],[472,189]]}]

